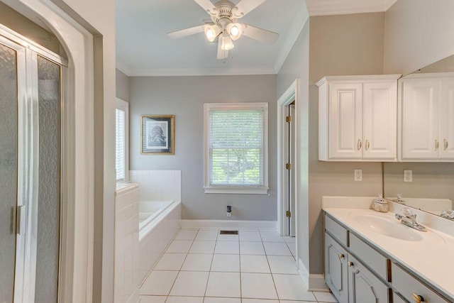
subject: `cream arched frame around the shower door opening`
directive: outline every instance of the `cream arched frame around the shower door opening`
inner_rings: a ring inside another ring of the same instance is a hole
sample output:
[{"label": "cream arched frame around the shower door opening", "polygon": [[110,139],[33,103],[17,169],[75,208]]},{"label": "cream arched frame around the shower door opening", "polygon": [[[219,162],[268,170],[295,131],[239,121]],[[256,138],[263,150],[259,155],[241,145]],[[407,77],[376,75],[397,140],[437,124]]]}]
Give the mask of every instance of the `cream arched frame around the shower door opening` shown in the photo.
[{"label": "cream arched frame around the shower door opening", "polygon": [[[52,1],[1,1],[24,16],[38,23],[45,23],[57,36],[68,55],[68,68],[62,71],[61,88],[62,173],[58,301],[92,302],[94,37]],[[28,43],[35,45],[31,40],[28,40]]]}]

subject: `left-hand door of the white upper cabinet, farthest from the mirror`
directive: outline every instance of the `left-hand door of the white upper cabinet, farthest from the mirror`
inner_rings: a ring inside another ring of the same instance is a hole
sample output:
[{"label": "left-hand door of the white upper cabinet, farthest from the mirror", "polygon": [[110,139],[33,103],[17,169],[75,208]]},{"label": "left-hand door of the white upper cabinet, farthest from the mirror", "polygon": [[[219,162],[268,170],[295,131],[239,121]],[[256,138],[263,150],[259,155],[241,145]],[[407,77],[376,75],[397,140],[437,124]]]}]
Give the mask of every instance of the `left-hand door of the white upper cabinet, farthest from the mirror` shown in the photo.
[{"label": "left-hand door of the white upper cabinet, farthest from the mirror", "polygon": [[330,84],[329,156],[362,158],[362,84]]}]

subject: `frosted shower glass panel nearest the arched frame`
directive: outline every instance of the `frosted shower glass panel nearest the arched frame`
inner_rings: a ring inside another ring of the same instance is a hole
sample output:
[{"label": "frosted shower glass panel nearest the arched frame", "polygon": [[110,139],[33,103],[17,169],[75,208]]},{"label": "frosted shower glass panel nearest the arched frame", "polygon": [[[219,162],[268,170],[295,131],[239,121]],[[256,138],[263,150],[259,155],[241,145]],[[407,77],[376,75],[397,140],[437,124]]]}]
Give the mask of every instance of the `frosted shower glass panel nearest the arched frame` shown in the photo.
[{"label": "frosted shower glass panel nearest the arched frame", "polygon": [[38,56],[39,195],[35,302],[57,302],[60,246],[60,66]]}]

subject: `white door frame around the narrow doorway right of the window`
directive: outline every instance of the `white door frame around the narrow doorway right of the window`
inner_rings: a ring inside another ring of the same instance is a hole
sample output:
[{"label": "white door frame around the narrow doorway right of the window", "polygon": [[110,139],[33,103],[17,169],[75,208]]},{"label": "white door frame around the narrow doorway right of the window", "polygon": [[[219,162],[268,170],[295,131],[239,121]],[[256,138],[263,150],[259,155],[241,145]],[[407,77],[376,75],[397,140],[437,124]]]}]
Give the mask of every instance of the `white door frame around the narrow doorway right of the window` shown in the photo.
[{"label": "white door frame around the narrow doorway right of the window", "polygon": [[[287,182],[287,170],[285,169],[285,165],[287,164],[287,158],[284,158],[284,155],[288,154],[288,136],[287,134],[287,122],[285,121],[285,117],[287,116],[287,106],[292,102],[295,102],[295,114],[294,114],[294,122],[295,122],[295,150],[294,150],[294,163],[292,166],[295,170],[295,184],[294,187],[294,196],[295,196],[295,210],[292,216],[295,216],[295,236],[298,231],[298,218],[297,218],[297,209],[298,209],[298,186],[299,184],[299,104],[300,94],[299,94],[299,79],[295,79],[295,81],[290,85],[290,87],[282,94],[281,97],[277,100],[277,232],[282,236],[287,235],[287,216],[285,216],[286,211],[288,210],[288,204],[286,202],[287,194],[288,194],[288,182]],[[297,238],[297,237],[296,237]],[[297,246],[298,247],[298,246]],[[297,253],[298,255],[298,253]]]}]

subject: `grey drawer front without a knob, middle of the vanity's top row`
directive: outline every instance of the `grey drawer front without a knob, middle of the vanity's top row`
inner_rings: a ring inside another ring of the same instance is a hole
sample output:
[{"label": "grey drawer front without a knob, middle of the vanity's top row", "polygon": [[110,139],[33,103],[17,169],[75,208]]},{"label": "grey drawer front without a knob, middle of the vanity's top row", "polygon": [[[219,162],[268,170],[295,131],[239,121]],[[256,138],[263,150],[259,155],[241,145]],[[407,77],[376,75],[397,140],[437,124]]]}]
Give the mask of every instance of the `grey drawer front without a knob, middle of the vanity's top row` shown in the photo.
[{"label": "grey drawer front without a knob, middle of the vanity's top row", "polygon": [[353,233],[350,233],[350,250],[384,281],[388,280],[388,259]]}]

